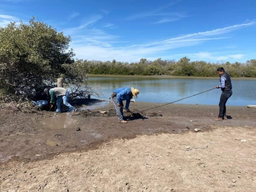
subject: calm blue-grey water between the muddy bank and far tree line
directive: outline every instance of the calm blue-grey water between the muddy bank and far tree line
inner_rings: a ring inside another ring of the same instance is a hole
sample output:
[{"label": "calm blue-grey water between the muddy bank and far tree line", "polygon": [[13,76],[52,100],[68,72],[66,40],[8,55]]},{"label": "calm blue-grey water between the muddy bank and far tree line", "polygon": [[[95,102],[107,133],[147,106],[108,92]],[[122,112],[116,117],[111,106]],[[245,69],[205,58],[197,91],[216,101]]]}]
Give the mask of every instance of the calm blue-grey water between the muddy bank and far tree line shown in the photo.
[{"label": "calm blue-grey water between the muddy bank and far tree line", "polygon": [[[256,105],[256,79],[232,78],[233,95],[227,105]],[[147,76],[91,76],[88,78],[90,86],[98,86],[103,93],[100,99],[109,99],[111,92],[120,87],[134,87],[140,90],[136,101],[170,103],[182,98],[214,88],[220,84],[218,77],[213,78],[172,78]],[[178,101],[180,104],[218,105],[220,89]],[[96,98],[92,96],[92,98]]]}]

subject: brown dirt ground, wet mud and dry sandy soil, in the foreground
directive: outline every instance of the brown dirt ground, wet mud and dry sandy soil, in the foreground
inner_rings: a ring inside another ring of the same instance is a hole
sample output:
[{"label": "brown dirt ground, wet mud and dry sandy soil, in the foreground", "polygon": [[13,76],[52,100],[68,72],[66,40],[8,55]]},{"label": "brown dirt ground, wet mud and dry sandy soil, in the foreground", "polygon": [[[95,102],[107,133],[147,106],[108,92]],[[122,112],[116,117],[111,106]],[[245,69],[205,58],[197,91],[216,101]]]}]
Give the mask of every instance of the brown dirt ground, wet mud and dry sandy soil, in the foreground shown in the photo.
[{"label": "brown dirt ground, wet mud and dry sandy soil, in the foreground", "polygon": [[170,104],[125,113],[120,124],[112,104],[57,115],[1,110],[0,191],[256,191],[256,109],[227,111],[229,120],[213,121],[217,105]]}]

